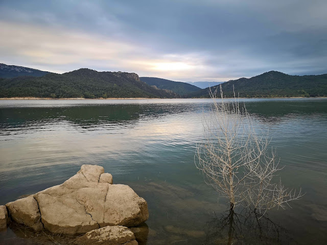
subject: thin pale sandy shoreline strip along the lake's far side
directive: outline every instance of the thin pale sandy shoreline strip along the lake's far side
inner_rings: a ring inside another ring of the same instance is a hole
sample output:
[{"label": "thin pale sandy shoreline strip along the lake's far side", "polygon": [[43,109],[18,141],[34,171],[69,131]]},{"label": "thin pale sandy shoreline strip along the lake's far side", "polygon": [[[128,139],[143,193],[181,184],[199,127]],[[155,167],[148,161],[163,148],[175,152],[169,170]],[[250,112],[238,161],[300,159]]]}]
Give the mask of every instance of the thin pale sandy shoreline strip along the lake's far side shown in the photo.
[{"label": "thin pale sandy shoreline strip along the lake's far side", "polygon": [[[238,97],[236,99],[325,99],[327,97]],[[139,97],[139,98],[97,98],[97,99],[85,99],[85,98],[50,98],[50,97],[5,97],[5,98],[0,98],[0,101],[18,101],[18,100],[35,100],[35,101],[39,101],[39,100],[52,100],[52,101],[66,101],[66,100],[184,100],[184,99],[211,99],[211,98],[143,98],[143,97]],[[216,99],[221,99],[219,97],[217,97]],[[228,98],[224,98],[224,99],[234,99],[233,97],[228,97]]]}]

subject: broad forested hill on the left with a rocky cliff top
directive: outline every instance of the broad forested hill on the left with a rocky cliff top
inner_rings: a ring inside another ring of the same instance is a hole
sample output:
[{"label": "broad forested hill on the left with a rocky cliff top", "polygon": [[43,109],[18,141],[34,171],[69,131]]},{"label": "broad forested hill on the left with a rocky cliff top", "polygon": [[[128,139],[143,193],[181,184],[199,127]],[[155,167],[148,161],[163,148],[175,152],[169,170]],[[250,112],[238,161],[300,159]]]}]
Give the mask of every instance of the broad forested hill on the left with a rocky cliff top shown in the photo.
[{"label": "broad forested hill on the left with a rocky cliff top", "polygon": [[158,89],[127,72],[98,72],[82,68],[43,77],[0,79],[0,97],[180,97],[170,90]]}]

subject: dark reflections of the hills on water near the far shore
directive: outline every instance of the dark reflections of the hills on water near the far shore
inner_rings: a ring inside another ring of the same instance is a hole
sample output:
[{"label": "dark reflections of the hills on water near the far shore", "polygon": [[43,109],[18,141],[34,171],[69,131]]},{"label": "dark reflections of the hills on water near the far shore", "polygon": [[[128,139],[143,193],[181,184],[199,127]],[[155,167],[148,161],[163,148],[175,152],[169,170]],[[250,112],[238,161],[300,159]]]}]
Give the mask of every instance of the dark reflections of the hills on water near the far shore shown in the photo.
[{"label": "dark reflections of the hills on water near the far shore", "polygon": [[[51,104],[48,107],[37,107],[34,104],[29,105],[31,107],[25,104],[11,107],[0,104],[0,134],[16,134],[18,130],[40,131],[64,122],[83,130],[133,127],[140,119],[151,120],[190,112],[199,114],[202,111],[207,114],[212,102],[211,100],[191,100],[193,103],[190,103],[190,100],[179,103],[174,100],[165,101],[164,104],[150,101],[149,104],[73,104],[71,107],[58,107],[58,105],[51,107]],[[267,124],[276,124],[299,115],[325,115],[326,112],[325,100],[275,100],[273,102],[240,100],[240,104],[243,103],[254,119],[262,120]]]}]

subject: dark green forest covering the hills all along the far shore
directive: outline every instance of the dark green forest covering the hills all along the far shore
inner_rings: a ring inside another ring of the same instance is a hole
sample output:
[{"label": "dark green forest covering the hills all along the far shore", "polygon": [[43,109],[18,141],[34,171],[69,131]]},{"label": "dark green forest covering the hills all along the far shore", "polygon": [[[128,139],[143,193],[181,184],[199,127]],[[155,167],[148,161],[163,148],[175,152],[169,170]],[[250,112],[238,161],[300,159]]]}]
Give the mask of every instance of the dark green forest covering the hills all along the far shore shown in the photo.
[{"label": "dark green forest covering the hills all along the far shore", "polygon": [[[24,67],[23,67],[24,68]],[[140,78],[128,72],[98,72],[87,68],[42,77],[0,78],[0,97],[97,98],[206,98],[209,88],[158,78]],[[224,96],[232,97],[323,97],[327,96],[327,74],[290,76],[269,71],[252,78],[221,84]],[[212,87],[212,91],[219,86]]]}]

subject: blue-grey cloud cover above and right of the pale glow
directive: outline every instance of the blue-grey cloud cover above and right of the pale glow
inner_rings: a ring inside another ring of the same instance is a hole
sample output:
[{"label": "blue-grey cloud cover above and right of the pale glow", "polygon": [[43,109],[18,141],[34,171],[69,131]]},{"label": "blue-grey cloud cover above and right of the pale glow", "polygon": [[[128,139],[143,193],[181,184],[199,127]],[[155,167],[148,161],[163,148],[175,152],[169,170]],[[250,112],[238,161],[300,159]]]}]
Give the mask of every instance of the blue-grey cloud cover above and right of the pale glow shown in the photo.
[{"label": "blue-grey cloud cover above and right of the pale glow", "polygon": [[[198,54],[193,63],[206,67],[201,76],[209,72],[217,81],[268,70],[327,73],[324,0],[2,1],[0,7],[3,21],[115,38],[144,47],[145,58]],[[203,80],[189,72],[179,78]]]}]

